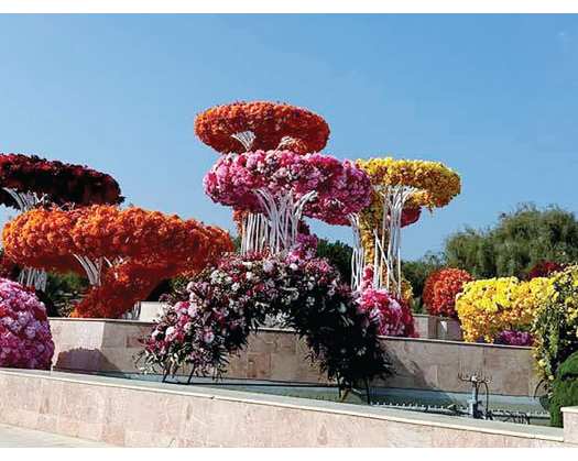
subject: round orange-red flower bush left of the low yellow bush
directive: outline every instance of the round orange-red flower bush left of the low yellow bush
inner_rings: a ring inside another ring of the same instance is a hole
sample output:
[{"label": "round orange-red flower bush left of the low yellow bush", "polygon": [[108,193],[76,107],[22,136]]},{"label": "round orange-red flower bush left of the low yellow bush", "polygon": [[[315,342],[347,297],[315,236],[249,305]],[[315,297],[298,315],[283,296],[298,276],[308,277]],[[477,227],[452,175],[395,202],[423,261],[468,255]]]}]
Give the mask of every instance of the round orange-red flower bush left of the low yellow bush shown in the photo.
[{"label": "round orange-red flower bush left of the low yellow bush", "polygon": [[456,295],[465,283],[472,281],[473,277],[460,268],[441,268],[432,273],[422,296],[427,311],[433,316],[456,318]]}]

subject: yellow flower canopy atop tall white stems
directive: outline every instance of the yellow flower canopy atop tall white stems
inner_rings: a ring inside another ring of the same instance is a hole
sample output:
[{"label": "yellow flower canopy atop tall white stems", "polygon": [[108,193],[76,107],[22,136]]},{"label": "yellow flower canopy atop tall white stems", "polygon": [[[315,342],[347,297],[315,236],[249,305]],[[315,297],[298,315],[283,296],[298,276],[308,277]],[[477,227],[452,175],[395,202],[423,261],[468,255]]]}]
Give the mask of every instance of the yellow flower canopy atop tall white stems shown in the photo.
[{"label": "yellow flower canopy atop tall white stems", "polygon": [[373,186],[415,187],[417,191],[410,206],[445,207],[461,190],[459,175],[439,162],[385,157],[358,160],[357,165],[369,175]]}]

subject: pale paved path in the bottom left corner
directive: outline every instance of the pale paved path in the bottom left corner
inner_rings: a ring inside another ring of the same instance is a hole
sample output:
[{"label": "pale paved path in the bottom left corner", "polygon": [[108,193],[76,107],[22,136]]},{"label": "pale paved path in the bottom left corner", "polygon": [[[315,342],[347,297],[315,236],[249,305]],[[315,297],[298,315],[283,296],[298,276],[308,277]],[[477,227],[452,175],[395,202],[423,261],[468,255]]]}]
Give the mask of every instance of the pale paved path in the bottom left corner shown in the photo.
[{"label": "pale paved path in the bottom left corner", "polygon": [[42,432],[40,430],[23,429],[15,426],[0,424],[0,448],[92,448],[110,447],[106,443],[91,440],[77,439],[75,437],[57,436],[55,433]]}]

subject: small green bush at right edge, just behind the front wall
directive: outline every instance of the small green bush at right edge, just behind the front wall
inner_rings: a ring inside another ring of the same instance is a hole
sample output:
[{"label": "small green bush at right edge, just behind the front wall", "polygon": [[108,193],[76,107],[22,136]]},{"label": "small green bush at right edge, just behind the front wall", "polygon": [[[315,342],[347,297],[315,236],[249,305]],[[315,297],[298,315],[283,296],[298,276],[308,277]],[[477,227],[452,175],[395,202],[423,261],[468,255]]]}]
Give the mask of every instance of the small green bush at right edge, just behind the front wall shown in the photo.
[{"label": "small green bush at right edge, just behind the front wall", "polygon": [[556,374],[549,399],[550,425],[561,427],[560,408],[576,405],[578,405],[578,352],[566,359]]}]

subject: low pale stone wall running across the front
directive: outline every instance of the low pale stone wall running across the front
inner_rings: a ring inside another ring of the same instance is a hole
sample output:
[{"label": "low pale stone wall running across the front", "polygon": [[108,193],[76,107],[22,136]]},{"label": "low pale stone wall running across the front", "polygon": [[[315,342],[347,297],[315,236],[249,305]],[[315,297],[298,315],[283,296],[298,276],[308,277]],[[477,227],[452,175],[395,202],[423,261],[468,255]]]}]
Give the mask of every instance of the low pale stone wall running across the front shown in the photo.
[{"label": "low pale stone wall running across the front", "polygon": [[563,430],[225,389],[0,370],[0,422],[122,447],[564,447]]}]

